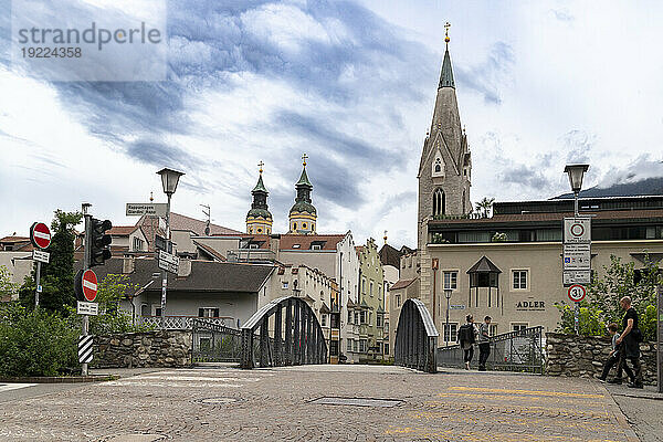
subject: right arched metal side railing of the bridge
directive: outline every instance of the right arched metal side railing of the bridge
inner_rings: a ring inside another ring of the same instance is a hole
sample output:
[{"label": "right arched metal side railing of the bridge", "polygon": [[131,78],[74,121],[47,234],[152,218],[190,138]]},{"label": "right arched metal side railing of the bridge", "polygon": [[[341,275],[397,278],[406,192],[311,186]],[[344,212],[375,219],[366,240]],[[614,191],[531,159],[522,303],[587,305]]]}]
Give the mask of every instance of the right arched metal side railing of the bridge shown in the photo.
[{"label": "right arched metal side railing of the bridge", "polygon": [[396,330],[394,364],[436,372],[438,336],[438,329],[425,305],[419,299],[406,301]]}]

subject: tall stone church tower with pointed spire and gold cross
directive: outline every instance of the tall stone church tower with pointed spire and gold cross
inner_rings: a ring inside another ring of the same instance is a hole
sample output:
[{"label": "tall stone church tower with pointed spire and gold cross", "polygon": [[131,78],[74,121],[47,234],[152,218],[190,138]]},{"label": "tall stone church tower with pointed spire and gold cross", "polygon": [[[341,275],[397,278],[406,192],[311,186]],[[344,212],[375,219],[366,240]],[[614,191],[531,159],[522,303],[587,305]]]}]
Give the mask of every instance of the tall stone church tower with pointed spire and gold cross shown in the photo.
[{"label": "tall stone church tower with pointed spire and gold cross", "polygon": [[461,128],[459,105],[451,56],[449,55],[449,27],[446,50],[442,62],[435,108],[430,131],[427,134],[419,164],[418,246],[422,250],[428,240],[427,221],[444,217],[461,217],[472,211],[470,186],[472,161],[467,137]]}]

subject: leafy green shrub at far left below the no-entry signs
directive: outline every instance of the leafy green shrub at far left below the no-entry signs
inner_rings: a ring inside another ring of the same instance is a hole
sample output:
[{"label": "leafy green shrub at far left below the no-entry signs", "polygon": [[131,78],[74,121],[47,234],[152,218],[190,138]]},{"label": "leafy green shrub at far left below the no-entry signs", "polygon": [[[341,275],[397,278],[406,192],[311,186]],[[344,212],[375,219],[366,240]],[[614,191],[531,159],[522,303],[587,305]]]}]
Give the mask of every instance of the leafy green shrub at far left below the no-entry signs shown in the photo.
[{"label": "leafy green shrub at far left below the no-entry signs", "polygon": [[59,376],[77,369],[78,330],[43,308],[0,306],[0,375]]}]

